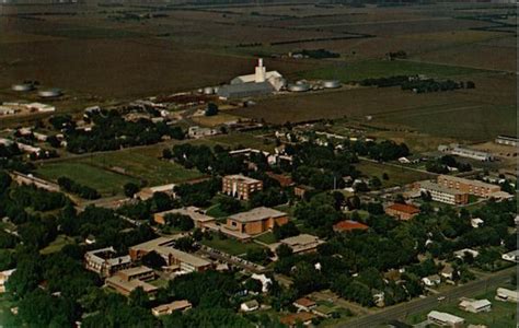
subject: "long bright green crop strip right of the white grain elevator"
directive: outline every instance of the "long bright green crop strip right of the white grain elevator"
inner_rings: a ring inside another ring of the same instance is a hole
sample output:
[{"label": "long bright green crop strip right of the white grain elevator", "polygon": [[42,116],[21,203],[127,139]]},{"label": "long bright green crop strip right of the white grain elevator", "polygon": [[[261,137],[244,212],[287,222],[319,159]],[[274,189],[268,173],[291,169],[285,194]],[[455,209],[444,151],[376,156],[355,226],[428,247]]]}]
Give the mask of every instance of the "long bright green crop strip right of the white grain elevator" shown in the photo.
[{"label": "long bright green crop strip right of the white grain elevator", "polygon": [[435,78],[469,75],[481,73],[482,70],[425,63],[405,60],[365,60],[353,63],[342,62],[301,73],[301,78],[320,80],[336,79],[343,82],[360,81],[370,78],[392,75],[425,74]]}]

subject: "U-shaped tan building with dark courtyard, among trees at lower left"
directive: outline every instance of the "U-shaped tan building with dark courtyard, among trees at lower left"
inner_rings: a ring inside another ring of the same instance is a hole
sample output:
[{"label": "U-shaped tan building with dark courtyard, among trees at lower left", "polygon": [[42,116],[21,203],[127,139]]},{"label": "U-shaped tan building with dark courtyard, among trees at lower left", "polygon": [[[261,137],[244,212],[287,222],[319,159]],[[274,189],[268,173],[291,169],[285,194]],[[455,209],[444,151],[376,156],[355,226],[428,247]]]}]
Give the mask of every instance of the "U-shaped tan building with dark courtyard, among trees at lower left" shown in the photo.
[{"label": "U-shaped tan building with dark courtyard, among trees at lower left", "polygon": [[84,254],[84,267],[101,277],[109,277],[115,272],[131,266],[128,255],[117,256],[114,247],[90,250]]}]

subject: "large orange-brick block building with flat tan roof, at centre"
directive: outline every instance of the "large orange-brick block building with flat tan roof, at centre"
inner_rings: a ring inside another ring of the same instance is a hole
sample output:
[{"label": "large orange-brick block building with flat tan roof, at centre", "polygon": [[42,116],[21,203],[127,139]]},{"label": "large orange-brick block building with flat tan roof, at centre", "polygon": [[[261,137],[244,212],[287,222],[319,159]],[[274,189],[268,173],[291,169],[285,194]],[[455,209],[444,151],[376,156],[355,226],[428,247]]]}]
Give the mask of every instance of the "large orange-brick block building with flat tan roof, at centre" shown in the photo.
[{"label": "large orange-brick block building with flat tan roof, at centre", "polygon": [[260,207],[247,212],[233,214],[227,219],[227,229],[249,235],[257,235],[288,223],[288,215],[278,210]]}]

